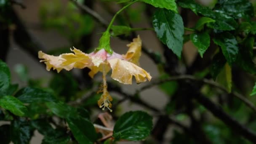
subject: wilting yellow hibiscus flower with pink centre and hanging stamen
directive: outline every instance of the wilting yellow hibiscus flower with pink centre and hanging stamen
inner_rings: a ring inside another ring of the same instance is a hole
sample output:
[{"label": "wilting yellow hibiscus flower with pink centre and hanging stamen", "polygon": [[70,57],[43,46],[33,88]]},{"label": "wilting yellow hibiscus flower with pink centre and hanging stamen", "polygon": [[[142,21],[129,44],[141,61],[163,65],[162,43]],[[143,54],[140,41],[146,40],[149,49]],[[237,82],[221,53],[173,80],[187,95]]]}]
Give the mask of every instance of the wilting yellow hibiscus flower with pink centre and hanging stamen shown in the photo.
[{"label": "wilting yellow hibiscus flower with pink centre and hanging stamen", "polygon": [[132,84],[132,77],[136,79],[136,83],[142,83],[151,80],[151,76],[144,69],[139,67],[139,58],[141,56],[141,39],[138,36],[133,42],[127,45],[129,47],[125,55],[113,52],[112,54],[102,48],[92,53],[83,53],[73,47],[70,50],[73,53],[64,53],[59,56],[51,56],[38,52],[38,57],[46,64],[46,69],[50,71],[56,69],[60,72],[62,69],[71,70],[73,68],[83,69],[88,67],[91,69],[89,76],[91,78],[98,72],[102,72],[103,84],[99,88],[98,93],[102,93],[98,101],[98,105],[103,110],[107,107],[112,112],[112,97],[107,91],[106,75],[112,69],[111,77],[119,83]]}]

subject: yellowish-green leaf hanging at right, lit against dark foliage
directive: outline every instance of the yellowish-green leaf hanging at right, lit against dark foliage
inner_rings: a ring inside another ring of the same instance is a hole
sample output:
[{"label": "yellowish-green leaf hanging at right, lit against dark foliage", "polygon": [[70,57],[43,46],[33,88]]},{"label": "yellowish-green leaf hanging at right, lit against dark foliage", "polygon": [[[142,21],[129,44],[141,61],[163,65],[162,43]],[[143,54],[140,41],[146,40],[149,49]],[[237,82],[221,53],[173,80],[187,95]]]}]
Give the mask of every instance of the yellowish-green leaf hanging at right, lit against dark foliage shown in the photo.
[{"label": "yellowish-green leaf hanging at right, lit against dark foliage", "polygon": [[227,91],[230,93],[232,88],[232,71],[231,67],[226,63],[221,72],[216,78],[216,82],[223,85],[227,88]]}]

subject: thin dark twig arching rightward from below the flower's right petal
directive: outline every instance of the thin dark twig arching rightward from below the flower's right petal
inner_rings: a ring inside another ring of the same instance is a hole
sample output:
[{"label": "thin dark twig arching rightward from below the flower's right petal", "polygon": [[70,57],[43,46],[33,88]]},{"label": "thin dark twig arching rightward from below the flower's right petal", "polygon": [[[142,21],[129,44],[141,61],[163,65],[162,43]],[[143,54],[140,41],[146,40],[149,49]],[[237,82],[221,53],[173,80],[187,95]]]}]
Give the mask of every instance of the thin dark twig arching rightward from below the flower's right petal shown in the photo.
[{"label": "thin dark twig arching rightward from below the flower's right petal", "polygon": [[[208,79],[198,79],[192,75],[179,75],[179,76],[174,76],[174,77],[169,77],[165,80],[153,80],[152,83],[150,83],[149,85],[145,85],[144,87],[142,87],[141,89],[139,89],[137,91],[137,93],[144,91],[148,88],[151,88],[155,85],[159,85],[161,83],[165,83],[168,81],[174,81],[174,80],[192,80],[192,81],[199,81],[199,82],[203,82],[205,84],[211,85],[213,87],[219,88],[220,90],[224,91],[225,93],[229,93],[229,91],[227,91],[226,88],[224,88],[223,86],[221,86],[219,83],[216,83],[212,80],[208,80]],[[232,92],[231,93],[233,96],[237,97],[238,99],[240,99],[241,101],[243,101],[243,103],[245,103],[248,107],[250,107],[254,112],[256,112],[256,107],[254,106],[254,104],[249,101],[248,99],[245,98],[245,96],[242,96],[241,94],[237,93],[237,92]]]}]

